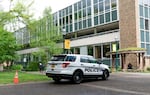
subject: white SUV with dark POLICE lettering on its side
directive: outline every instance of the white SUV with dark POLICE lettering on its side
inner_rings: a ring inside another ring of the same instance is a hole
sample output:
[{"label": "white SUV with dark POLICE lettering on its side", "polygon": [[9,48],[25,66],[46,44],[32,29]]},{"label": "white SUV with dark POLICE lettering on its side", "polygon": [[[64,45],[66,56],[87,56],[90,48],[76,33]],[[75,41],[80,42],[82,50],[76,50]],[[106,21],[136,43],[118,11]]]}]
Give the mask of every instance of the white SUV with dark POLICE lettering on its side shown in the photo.
[{"label": "white SUV with dark POLICE lettering on its side", "polygon": [[46,67],[46,76],[55,82],[61,79],[70,79],[80,83],[85,78],[109,77],[109,67],[98,62],[93,56],[79,54],[54,55]]}]

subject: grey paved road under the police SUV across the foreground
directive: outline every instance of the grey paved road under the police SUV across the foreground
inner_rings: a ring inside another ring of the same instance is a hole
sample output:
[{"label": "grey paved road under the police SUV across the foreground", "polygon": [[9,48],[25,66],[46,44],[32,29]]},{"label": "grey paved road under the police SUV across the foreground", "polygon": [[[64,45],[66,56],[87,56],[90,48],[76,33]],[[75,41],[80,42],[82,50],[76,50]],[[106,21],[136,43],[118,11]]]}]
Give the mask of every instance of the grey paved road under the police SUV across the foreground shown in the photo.
[{"label": "grey paved road under the police SUV across the foreground", "polygon": [[53,81],[0,86],[0,95],[150,95],[150,74],[112,73],[108,81]]}]

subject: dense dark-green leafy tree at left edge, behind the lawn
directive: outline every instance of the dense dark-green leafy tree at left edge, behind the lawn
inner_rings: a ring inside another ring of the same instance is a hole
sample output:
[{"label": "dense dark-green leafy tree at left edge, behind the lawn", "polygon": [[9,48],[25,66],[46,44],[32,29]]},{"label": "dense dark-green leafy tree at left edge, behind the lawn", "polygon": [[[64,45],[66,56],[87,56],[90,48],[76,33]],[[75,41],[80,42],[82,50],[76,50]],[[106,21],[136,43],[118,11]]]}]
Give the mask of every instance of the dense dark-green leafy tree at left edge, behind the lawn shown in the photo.
[{"label": "dense dark-green leafy tree at left edge, behind the lawn", "polygon": [[16,40],[13,33],[4,30],[0,27],[0,64],[12,62],[16,59]]}]

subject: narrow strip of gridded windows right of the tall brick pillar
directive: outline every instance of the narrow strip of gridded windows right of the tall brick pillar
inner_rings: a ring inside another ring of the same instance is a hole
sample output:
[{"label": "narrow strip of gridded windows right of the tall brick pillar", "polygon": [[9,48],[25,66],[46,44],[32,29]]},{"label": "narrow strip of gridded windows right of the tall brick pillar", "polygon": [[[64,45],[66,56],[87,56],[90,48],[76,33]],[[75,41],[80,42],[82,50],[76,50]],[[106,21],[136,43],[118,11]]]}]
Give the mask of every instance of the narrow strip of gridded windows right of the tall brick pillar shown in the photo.
[{"label": "narrow strip of gridded windows right of the tall brick pillar", "polygon": [[150,55],[150,0],[139,0],[141,48]]}]

